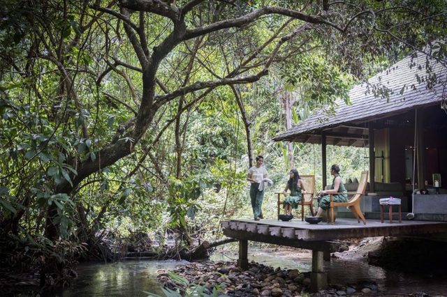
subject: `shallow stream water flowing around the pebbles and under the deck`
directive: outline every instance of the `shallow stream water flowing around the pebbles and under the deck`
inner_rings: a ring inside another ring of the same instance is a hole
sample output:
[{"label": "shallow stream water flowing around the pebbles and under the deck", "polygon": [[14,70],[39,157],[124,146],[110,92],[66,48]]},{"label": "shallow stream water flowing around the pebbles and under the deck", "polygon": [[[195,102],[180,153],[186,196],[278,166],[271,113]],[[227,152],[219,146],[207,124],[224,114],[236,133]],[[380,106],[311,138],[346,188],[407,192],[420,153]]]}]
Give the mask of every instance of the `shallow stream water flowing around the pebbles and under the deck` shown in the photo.
[{"label": "shallow stream water flowing around the pebbles and under the deck", "polygon": [[[231,261],[237,254],[215,253],[211,260]],[[260,264],[296,268],[301,272],[311,270],[312,254],[295,254],[291,251],[249,250],[249,261]],[[81,264],[78,278],[68,289],[52,291],[41,296],[147,296],[144,291],[164,296],[161,284],[156,280],[156,271],[169,270],[187,264],[187,261],[131,260],[112,264]],[[325,262],[330,284],[374,283],[379,287],[379,296],[409,296],[425,293],[430,296],[447,296],[447,272],[444,275],[409,275],[369,265],[363,261],[331,259]],[[415,268],[417,271],[417,268]],[[377,295],[376,295],[377,296]],[[423,295],[420,295],[423,296]]]}]

